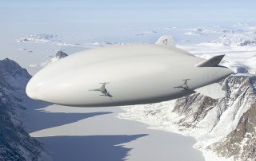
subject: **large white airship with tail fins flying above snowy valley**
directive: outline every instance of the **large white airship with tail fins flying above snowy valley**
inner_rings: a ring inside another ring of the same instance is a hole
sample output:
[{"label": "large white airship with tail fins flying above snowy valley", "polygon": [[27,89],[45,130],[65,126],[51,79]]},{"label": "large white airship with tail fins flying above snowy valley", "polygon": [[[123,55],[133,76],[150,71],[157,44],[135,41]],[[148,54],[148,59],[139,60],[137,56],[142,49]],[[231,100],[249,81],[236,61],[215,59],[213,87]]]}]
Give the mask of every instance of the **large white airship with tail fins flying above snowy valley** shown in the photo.
[{"label": "large white airship with tail fins flying above snowy valley", "polygon": [[152,104],[194,92],[225,96],[217,83],[234,73],[174,45],[171,36],[155,44],[108,45],[71,54],[41,69],[26,85],[34,100],[79,107]]}]

